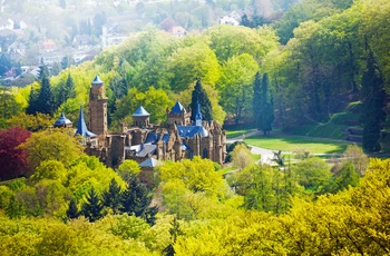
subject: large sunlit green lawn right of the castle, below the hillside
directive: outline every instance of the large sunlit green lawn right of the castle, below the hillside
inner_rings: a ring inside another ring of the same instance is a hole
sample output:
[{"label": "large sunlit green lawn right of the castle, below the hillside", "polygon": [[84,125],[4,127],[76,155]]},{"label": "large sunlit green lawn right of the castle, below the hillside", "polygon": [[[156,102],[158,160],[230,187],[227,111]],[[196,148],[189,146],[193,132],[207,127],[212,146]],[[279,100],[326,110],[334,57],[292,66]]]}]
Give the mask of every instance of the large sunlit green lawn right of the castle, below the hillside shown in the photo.
[{"label": "large sunlit green lawn right of the castle, below the hillside", "polygon": [[348,142],[300,136],[254,136],[245,138],[245,142],[272,150],[295,151],[296,149],[304,149],[310,154],[343,152],[349,145]]}]

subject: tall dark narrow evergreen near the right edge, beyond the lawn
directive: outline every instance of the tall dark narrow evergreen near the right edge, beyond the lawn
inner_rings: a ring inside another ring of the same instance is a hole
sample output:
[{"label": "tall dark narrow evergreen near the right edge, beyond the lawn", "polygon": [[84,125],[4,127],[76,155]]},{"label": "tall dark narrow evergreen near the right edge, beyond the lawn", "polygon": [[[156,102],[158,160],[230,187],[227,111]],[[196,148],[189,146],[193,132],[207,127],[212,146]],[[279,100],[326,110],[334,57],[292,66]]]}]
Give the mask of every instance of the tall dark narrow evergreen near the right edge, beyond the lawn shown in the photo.
[{"label": "tall dark narrow evergreen near the right edge, beyond the lawn", "polygon": [[381,126],[386,119],[382,73],[376,63],[373,52],[370,51],[367,69],[362,77],[362,112],[363,148],[369,152],[380,151]]}]

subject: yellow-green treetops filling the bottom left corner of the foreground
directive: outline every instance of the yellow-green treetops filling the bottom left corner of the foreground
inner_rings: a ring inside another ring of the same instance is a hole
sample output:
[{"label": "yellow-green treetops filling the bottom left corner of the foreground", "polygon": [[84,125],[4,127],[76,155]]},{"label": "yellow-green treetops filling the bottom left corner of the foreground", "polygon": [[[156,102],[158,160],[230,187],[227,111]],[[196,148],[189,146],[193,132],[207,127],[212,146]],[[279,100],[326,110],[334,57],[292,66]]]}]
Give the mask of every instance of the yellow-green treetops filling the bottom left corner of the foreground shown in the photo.
[{"label": "yellow-green treetops filling the bottom left corner of the foreground", "polygon": [[0,218],[1,255],[158,255],[143,243],[95,228],[79,218],[68,224],[50,219]]}]

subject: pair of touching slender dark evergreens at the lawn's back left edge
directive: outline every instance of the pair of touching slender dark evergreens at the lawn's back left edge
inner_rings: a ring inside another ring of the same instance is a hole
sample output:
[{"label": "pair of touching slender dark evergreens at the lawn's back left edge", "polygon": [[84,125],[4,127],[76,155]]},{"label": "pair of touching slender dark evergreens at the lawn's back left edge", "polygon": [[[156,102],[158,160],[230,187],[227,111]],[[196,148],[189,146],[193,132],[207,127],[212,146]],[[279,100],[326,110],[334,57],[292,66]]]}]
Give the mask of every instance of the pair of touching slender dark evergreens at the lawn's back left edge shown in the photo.
[{"label": "pair of touching slender dark evergreens at the lawn's back left edge", "polygon": [[261,83],[260,75],[259,72],[256,73],[253,90],[253,111],[256,127],[259,130],[262,130],[264,135],[267,135],[272,130],[272,122],[275,119],[267,73],[264,73]]}]

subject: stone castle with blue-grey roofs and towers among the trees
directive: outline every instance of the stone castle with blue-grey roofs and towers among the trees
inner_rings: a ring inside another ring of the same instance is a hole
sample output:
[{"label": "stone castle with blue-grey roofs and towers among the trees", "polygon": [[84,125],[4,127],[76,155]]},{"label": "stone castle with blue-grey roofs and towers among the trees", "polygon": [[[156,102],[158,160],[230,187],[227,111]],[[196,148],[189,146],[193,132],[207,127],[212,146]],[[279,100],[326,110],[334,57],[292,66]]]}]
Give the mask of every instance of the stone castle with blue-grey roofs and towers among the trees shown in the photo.
[{"label": "stone castle with blue-grey roofs and towers among the trees", "polygon": [[[89,129],[80,109],[77,135],[86,139],[88,155],[97,156],[109,167],[118,167],[125,159],[136,160],[142,167],[154,167],[157,161],[178,161],[194,156],[208,158],[222,165],[226,156],[225,131],[216,121],[203,121],[197,105],[196,120],[192,124],[191,111],[176,102],[167,110],[167,124],[153,125],[150,114],[142,106],[131,115],[134,126],[121,125],[121,131],[107,130],[107,97],[104,82],[98,76],[89,91]],[[55,126],[65,126],[62,115]],[[69,121],[69,120],[68,120]]]}]

